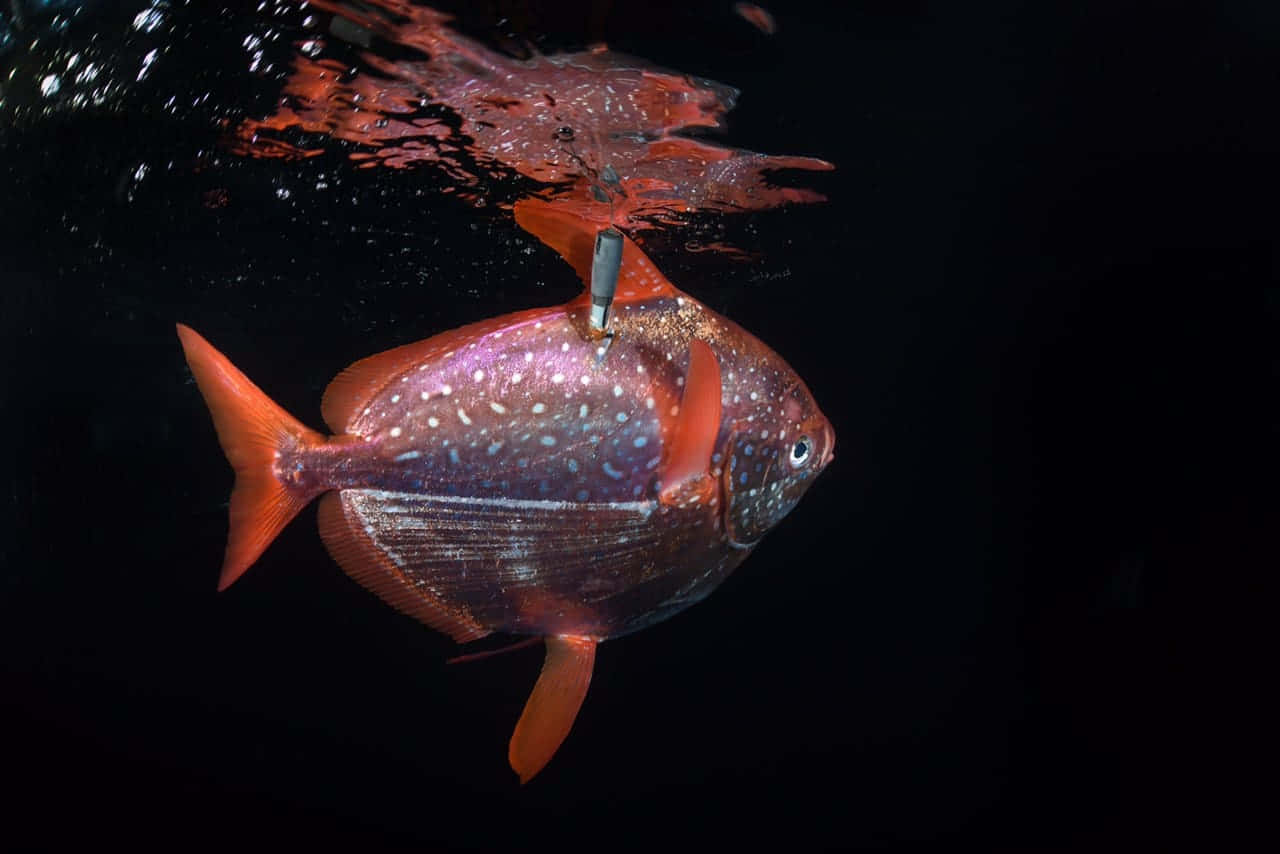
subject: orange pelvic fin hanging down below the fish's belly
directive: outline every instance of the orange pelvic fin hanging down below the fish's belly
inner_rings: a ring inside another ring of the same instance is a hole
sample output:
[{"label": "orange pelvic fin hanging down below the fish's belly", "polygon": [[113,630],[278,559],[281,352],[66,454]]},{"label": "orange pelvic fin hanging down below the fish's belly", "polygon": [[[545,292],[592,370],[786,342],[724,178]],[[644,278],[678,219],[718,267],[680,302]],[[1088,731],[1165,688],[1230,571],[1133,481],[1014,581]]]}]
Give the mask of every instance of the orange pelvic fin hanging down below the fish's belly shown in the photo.
[{"label": "orange pelvic fin hanging down below the fish's belly", "polygon": [[547,639],[543,672],[525,703],[507,749],[507,759],[520,776],[521,785],[547,767],[572,729],[586,688],[591,684],[595,643],[593,638],[573,635]]}]

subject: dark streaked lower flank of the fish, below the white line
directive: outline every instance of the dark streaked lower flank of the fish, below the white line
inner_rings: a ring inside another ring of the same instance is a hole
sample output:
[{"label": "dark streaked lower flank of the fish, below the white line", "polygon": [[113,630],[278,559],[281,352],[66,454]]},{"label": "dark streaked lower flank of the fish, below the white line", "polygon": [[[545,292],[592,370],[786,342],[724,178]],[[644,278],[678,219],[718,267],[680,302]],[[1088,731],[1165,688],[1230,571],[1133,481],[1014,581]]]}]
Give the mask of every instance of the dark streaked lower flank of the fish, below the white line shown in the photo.
[{"label": "dark streaked lower flank of the fish, below the white line", "polygon": [[[504,631],[616,636],[710,592],[710,585],[687,589],[681,572],[689,560],[712,552],[682,517],[695,511],[657,502],[570,506],[364,489],[343,490],[342,501],[408,580]],[[401,519],[410,524],[397,524]],[[727,570],[742,557],[716,551],[707,560]]]}]

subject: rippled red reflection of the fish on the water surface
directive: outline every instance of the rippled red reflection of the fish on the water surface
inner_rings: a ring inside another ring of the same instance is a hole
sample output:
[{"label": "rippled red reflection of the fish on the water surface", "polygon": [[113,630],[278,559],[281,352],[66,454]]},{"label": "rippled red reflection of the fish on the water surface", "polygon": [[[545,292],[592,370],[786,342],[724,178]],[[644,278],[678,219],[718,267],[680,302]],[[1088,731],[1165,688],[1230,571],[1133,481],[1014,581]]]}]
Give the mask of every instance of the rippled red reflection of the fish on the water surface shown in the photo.
[{"label": "rippled red reflection of the fish on the water surface", "polygon": [[[330,17],[308,17],[317,32],[297,42],[275,113],[229,128],[237,154],[310,157],[337,138],[362,166],[433,164],[454,182],[444,192],[479,200],[483,182],[516,179],[562,210],[632,229],[824,201],[771,174],[829,163],[690,136],[723,127],[737,97],[728,86],[604,45],[516,59],[451,29],[447,14],[397,0],[310,5]],[[329,55],[333,42],[356,46],[364,67]]]}]

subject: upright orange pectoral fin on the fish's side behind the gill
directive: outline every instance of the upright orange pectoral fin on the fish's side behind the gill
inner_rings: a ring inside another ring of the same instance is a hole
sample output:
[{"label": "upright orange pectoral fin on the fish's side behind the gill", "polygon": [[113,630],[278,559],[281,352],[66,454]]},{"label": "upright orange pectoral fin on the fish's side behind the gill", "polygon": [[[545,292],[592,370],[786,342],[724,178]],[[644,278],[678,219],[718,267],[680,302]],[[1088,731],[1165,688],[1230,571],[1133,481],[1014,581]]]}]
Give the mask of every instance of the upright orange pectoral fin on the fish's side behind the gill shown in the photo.
[{"label": "upright orange pectoral fin on the fish's side behind the gill", "polygon": [[663,487],[664,504],[686,504],[710,498],[712,452],[721,421],[719,361],[710,346],[698,338],[689,342],[689,374],[672,430]]}]

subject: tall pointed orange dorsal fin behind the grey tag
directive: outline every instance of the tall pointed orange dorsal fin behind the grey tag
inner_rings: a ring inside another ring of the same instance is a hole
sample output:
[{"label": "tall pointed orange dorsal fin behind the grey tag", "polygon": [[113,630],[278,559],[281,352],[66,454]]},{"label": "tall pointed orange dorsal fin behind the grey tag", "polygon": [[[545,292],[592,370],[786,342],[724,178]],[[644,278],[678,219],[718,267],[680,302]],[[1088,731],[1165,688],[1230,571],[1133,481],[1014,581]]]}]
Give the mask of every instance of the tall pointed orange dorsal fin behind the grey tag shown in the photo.
[{"label": "tall pointed orange dorsal fin behind the grey tag", "polygon": [[[591,283],[591,255],[595,234],[608,223],[594,223],[576,214],[557,210],[540,198],[516,202],[516,224],[556,250],[577,273],[584,284]],[[680,291],[667,280],[635,242],[622,236],[622,266],[614,302],[636,302],[654,297],[676,297]]]}]

